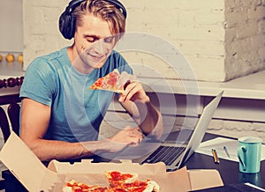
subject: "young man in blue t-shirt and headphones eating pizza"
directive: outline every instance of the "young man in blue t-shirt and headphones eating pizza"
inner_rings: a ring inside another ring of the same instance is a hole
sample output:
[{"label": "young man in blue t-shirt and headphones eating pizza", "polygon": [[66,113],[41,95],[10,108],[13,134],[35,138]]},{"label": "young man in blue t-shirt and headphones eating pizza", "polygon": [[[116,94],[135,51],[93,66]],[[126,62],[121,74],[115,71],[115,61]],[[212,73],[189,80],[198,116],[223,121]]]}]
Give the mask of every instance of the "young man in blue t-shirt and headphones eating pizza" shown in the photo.
[{"label": "young man in blue t-shirt and headphones eating pizza", "polygon": [[[36,58],[25,75],[20,137],[42,161],[87,158],[137,145],[145,135],[160,137],[161,115],[125,59],[113,50],[125,33],[126,11],[116,0],[73,0],[60,17],[71,47]],[[118,69],[125,94],[119,102],[137,128],[126,127],[98,141],[113,92],[89,90],[97,78]]]}]

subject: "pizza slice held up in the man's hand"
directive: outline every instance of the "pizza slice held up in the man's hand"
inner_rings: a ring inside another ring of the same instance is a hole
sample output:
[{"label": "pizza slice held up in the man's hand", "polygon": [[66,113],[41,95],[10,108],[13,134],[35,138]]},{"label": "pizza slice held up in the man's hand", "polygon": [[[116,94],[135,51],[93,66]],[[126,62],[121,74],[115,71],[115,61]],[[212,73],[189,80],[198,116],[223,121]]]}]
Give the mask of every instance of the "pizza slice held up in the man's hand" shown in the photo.
[{"label": "pizza slice held up in the man's hand", "polygon": [[117,69],[111,71],[108,75],[98,78],[95,80],[95,83],[89,87],[93,90],[106,90],[110,92],[117,92],[123,94],[125,92],[124,87],[119,87],[117,85],[117,80],[120,77],[120,74]]}]

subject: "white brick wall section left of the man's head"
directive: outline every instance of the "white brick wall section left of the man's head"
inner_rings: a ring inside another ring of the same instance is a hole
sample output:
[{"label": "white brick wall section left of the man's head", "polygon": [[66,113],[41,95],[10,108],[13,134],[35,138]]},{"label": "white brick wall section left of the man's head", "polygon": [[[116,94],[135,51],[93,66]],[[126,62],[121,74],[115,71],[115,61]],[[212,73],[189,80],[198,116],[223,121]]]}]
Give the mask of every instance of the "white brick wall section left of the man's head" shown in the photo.
[{"label": "white brick wall section left of the man's head", "polygon": [[57,25],[65,4],[68,4],[68,0],[23,1],[25,70],[36,56],[69,44],[61,38]]}]

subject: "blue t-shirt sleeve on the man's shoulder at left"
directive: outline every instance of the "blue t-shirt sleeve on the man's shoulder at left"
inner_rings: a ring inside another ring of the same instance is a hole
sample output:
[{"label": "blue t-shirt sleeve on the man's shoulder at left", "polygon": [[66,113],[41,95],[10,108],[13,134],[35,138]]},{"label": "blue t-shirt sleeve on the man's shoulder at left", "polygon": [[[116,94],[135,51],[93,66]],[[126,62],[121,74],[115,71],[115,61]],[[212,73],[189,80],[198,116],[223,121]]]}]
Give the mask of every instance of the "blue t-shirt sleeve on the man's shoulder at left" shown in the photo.
[{"label": "blue t-shirt sleeve on the man's shoulder at left", "polygon": [[27,67],[19,96],[51,106],[56,86],[56,74],[52,67],[44,59],[37,58]]}]

